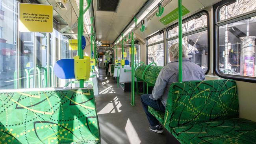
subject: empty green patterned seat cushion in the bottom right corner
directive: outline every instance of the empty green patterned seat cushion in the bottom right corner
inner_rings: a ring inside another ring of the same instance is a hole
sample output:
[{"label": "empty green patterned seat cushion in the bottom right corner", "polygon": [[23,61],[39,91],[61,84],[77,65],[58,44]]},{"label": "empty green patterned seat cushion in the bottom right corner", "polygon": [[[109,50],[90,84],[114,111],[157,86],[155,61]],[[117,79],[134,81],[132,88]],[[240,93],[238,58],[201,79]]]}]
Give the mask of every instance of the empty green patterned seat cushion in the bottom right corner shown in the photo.
[{"label": "empty green patterned seat cushion in the bottom right corner", "polygon": [[243,118],[174,127],[171,133],[182,144],[256,144],[256,122]]}]

